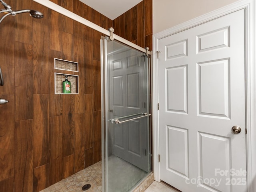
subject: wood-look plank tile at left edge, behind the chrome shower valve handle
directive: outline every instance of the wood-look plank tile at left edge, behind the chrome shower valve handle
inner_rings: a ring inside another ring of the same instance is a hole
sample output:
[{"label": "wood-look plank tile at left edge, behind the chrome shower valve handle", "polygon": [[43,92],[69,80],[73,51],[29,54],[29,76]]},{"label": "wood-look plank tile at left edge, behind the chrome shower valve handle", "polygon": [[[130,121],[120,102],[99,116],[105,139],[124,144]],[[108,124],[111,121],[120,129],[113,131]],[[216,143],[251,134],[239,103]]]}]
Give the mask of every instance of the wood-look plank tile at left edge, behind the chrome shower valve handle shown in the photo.
[{"label": "wood-look plank tile at left edge, behind the chrome shower valve handle", "polygon": [[14,95],[0,95],[9,103],[0,105],[0,181],[14,176]]}]

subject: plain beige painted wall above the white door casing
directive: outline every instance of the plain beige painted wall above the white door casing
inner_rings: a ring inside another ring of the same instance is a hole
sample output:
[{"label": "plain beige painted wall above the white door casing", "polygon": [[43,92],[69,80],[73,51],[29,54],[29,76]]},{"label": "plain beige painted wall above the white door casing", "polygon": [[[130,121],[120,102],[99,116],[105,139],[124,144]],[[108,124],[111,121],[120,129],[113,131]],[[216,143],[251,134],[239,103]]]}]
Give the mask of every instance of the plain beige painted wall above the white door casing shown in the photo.
[{"label": "plain beige painted wall above the white door casing", "polygon": [[153,34],[238,0],[153,0]]}]

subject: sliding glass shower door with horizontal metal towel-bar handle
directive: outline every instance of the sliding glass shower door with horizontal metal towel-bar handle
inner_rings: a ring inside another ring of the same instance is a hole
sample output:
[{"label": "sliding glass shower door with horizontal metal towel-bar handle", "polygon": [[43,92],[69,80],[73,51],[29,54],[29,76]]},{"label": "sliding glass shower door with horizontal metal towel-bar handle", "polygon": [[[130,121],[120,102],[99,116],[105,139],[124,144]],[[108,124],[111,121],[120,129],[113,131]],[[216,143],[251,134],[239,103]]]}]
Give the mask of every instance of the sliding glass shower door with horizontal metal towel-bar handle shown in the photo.
[{"label": "sliding glass shower door with horizontal metal towel-bar handle", "polygon": [[129,192],[150,171],[149,58],[101,40],[104,192]]}]

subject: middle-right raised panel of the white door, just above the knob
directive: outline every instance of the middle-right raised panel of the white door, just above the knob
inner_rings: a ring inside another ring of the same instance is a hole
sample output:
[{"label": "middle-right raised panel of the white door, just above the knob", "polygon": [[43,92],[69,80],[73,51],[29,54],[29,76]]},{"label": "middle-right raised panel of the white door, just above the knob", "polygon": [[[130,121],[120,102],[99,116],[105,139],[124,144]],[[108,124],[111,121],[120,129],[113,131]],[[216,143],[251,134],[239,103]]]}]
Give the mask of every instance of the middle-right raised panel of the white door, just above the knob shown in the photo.
[{"label": "middle-right raised panel of the white door, just above the knob", "polygon": [[198,63],[197,68],[198,115],[230,118],[230,60]]}]

